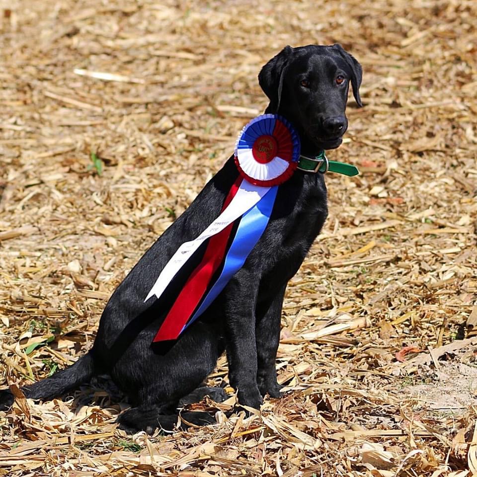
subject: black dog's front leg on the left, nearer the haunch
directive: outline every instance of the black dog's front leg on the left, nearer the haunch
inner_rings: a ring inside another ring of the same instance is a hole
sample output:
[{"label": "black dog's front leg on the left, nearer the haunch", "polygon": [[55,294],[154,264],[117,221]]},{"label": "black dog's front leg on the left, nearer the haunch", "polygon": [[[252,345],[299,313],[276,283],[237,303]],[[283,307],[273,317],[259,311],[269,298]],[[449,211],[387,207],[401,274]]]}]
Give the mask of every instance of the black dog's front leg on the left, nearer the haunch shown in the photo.
[{"label": "black dog's front leg on the left, nearer the haunch", "polygon": [[230,384],[239,403],[259,409],[263,400],[257,386],[255,307],[258,280],[245,269],[229,282],[226,303],[227,359]]}]

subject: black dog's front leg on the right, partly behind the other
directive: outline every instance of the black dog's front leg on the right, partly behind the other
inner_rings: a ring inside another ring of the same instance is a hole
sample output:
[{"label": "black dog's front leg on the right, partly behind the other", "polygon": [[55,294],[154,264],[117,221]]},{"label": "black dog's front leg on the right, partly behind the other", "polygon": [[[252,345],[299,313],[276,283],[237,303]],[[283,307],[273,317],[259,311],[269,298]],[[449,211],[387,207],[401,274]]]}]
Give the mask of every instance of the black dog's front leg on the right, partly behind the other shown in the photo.
[{"label": "black dog's front leg on the right, partly behind the other", "polygon": [[287,285],[278,290],[271,300],[257,306],[257,325],[255,329],[257,346],[257,384],[260,394],[280,397],[277,383],[277,349],[280,342],[280,322],[283,297]]}]

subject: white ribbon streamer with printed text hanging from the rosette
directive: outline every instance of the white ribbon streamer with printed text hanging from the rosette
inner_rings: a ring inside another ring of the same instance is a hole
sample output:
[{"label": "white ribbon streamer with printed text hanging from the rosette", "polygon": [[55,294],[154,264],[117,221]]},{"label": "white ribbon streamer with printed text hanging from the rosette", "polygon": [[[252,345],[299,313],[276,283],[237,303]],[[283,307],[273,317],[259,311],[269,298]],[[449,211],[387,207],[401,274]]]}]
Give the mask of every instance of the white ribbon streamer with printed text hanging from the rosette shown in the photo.
[{"label": "white ribbon streamer with printed text hanging from the rosette", "polygon": [[159,298],[176,273],[205,240],[223,231],[228,225],[249,211],[269,190],[270,187],[253,185],[243,179],[240,183],[239,190],[224,212],[222,212],[197,239],[184,242],[172,255],[171,259],[160,272],[156,283],[144,301],[148,301],[153,295]]}]

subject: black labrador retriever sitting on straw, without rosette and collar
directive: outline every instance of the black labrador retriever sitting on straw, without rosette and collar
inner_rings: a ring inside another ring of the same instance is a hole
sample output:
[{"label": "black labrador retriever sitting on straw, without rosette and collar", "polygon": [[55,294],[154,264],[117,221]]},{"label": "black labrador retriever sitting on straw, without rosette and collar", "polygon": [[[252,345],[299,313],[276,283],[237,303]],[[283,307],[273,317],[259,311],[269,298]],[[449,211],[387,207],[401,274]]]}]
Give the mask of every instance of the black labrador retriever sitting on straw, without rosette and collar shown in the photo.
[{"label": "black labrador retriever sitting on straw, without rosette and collar", "polygon": [[[287,46],[258,76],[270,99],[265,112],[278,113],[293,124],[301,154],[310,158],[341,144],[348,127],[349,84],[361,106],[361,79],[360,64],[337,44]],[[92,349],[69,368],[23,387],[26,397],[51,399],[93,375],[108,374],[133,404],[118,418],[122,428],[172,428],[179,403],[204,395],[224,397],[221,389],[198,388],[224,350],[240,404],[259,408],[263,396],[280,396],[275,360],[283,297],[326,219],[323,174],[297,170],[279,187],[268,226],[245,264],[178,339],[152,344],[186,272],[179,272],[159,299],[144,302],[179,245],[196,238],[219,215],[238,174],[231,157],[115,290]],[[0,408],[12,401],[8,390],[0,392]]]}]

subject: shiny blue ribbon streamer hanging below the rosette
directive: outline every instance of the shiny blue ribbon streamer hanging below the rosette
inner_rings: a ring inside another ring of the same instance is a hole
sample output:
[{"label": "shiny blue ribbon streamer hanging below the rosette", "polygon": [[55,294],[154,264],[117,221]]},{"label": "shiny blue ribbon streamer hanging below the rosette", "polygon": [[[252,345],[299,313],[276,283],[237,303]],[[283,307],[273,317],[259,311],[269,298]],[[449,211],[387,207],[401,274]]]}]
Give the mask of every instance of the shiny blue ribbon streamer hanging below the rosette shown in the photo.
[{"label": "shiny blue ribbon streamer hanging below the rosette", "polygon": [[210,289],[199,309],[184,325],[181,333],[207,310],[227,283],[229,283],[229,280],[245,263],[248,254],[252,251],[252,248],[258,242],[258,239],[260,239],[268,224],[277,196],[277,190],[278,185],[271,187],[255,206],[242,215],[234,241],[225,257],[222,273]]}]

